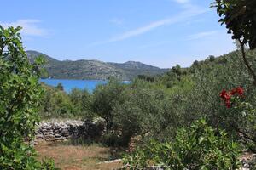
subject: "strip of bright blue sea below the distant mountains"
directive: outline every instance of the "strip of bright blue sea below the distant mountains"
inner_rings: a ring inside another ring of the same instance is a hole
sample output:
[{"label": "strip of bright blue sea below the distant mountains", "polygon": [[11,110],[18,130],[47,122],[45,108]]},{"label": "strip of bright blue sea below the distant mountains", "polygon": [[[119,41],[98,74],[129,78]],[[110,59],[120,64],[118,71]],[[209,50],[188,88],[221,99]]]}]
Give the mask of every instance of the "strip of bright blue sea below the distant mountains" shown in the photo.
[{"label": "strip of bright blue sea below the distant mountains", "polygon": [[64,90],[69,93],[73,88],[87,89],[92,92],[97,85],[107,83],[107,81],[102,80],[64,80],[64,79],[41,79],[40,82],[44,82],[50,86],[57,86],[61,83]]}]

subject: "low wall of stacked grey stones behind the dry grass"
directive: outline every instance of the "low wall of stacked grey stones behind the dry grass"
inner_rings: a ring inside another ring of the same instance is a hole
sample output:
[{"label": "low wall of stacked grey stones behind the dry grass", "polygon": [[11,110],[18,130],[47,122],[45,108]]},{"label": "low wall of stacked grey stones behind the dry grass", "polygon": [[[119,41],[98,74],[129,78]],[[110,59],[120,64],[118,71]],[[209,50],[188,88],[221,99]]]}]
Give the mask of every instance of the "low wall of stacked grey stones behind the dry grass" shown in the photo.
[{"label": "low wall of stacked grey stones behind the dry grass", "polygon": [[104,121],[44,121],[36,131],[36,141],[65,141],[67,139],[98,140],[105,132]]}]

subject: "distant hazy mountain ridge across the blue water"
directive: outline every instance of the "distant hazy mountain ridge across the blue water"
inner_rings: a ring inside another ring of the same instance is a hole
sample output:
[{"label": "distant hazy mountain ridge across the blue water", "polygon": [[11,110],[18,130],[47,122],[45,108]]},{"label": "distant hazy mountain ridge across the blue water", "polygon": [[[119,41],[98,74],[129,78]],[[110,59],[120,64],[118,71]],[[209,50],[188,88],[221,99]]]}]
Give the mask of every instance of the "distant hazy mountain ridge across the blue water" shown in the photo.
[{"label": "distant hazy mountain ridge across the blue water", "polygon": [[105,63],[99,60],[85,59],[60,61],[37,51],[26,51],[26,54],[31,62],[39,55],[44,56],[47,60],[44,68],[48,72],[48,77],[56,79],[105,80],[108,77],[116,77],[121,80],[131,80],[138,75],[155,76],[168,71],[168,69],[160,69],[135,61],[125,63]]}]

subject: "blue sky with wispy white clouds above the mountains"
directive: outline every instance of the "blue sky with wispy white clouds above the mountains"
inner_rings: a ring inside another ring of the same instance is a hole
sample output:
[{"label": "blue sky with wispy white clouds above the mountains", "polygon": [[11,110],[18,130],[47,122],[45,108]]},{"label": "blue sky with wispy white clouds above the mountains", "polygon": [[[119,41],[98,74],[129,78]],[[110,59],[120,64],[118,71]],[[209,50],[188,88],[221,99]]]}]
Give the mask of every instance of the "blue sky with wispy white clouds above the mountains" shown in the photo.
[{"label": "blue sky with wispy white clouds above the mountains", "polygon": [[236,46],[212,0],[0,0],[0,25],[22,26],[26,50],[60,60],[187,67]]}]

